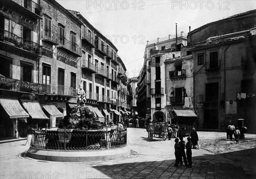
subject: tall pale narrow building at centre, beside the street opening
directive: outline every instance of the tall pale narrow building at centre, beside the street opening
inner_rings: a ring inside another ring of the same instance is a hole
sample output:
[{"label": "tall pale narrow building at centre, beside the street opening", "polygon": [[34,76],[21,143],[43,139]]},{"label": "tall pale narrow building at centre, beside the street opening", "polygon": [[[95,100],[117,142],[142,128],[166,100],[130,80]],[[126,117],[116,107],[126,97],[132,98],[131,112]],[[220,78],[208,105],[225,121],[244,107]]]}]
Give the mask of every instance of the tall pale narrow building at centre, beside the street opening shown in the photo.
[{"label": "tall pale narrow building at centre, beside the street opening", "polygon": [[186,45],[186,36],[183,32],[177,35],[177,38],[176,35],[169,35],[165,38],[147,41],[143,68],[138,77],[137,110],[139,116],[152,118],[154,121],[166,119],[166,70],[164,61],[167,58],[166,55],[162,57],[161,54],[179,52],[184,45]]}]

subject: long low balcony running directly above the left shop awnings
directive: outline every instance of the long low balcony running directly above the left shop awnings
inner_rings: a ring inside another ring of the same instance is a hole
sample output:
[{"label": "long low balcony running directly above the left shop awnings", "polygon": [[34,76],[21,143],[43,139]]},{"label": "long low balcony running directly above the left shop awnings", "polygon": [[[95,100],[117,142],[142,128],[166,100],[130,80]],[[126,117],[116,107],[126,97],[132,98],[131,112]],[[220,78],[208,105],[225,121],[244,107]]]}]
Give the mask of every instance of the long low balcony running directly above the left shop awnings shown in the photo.
[{"label": "long low balcony running directly above the left shop awnings", "polygon": [[0,89],[35,94],[59,94],[76,96],[76,89],[58,84],[38,84],[17,79],[0,77]]}]

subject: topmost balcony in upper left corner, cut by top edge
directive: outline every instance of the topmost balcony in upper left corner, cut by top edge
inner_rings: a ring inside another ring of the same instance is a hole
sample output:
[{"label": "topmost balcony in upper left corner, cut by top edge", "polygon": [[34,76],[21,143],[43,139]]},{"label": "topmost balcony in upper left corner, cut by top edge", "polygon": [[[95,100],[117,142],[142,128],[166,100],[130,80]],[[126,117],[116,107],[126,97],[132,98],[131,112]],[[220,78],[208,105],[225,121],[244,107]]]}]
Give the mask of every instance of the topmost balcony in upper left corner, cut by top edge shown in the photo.
[{"label": "topmost balcony in upper left corner, cut by top edge", "polygon": [[3,0],[5,6],[28,19],[42,19],[42,8],[32,0]]}]

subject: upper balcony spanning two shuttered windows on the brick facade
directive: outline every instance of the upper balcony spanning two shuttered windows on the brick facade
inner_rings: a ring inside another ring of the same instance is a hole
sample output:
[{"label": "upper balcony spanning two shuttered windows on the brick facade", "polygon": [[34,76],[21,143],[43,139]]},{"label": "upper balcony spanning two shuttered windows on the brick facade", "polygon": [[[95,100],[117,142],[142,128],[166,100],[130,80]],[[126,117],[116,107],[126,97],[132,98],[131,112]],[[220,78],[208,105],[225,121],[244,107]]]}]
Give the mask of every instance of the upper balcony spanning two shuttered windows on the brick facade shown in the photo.
[{"label": "upper balcony spanning two shuttered windows on the brick facade", "polygon": [[[64,40],[64,41],[63,41]],[[81,57],[82,51],[81,47],[79,47],[76,43],[67,40],[65,37],[63,39],[59,39],[59,44],[57,46],[58,49],[67,52],[68,54],[72,54],[76,57]],[[63,53],[60,53],[62,55]]]}]

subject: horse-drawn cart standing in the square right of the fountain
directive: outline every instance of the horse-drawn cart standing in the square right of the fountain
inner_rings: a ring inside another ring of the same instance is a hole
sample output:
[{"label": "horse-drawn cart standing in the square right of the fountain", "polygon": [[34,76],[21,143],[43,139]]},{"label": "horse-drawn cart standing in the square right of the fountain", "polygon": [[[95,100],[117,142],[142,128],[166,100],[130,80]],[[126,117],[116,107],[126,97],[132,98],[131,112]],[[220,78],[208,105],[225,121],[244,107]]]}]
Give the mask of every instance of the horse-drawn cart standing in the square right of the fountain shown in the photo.
[{"label": "horse-drawn cart standing in the square right of the fountain", "polygon": [[146,130],[148,132],[148,139],[153,139],[153,135],[158,135],[159,137],[162,137],[165,141],[167,138],[167,128],[168,125],[162,124],[162,123],[150,123],[148,126],[146,126]]}]

